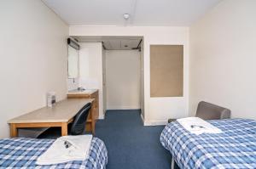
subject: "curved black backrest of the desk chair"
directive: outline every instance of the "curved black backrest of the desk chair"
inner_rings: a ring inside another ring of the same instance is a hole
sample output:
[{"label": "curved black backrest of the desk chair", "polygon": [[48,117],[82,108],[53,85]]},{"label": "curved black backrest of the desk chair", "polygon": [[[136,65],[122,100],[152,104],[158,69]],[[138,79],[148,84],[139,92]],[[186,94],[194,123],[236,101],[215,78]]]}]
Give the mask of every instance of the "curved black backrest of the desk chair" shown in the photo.
[{"label": "curved black backrest of the desk chair", "polygon": [[84,107],[79,110],[78,114],[75,116],[70,134],[71,135],[79,135],[83,134],[85,130],[85,124],[87,117],[90,113],[91,104],[85,104]]}]

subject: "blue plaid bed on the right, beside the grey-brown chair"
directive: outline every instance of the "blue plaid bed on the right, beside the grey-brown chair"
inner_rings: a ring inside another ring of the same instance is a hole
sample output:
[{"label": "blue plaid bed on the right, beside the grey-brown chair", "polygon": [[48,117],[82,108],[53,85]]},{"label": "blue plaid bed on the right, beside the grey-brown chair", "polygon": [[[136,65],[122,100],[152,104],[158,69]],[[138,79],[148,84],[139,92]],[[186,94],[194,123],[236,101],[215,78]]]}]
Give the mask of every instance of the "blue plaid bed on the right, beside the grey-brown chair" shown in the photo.
[{"label": "blue plaid bed on the right, beside the grey-brown chair", "polygon": [[160,135],[161,144],[180,168],[256,168],[256,121],[208,121],[223,131],[199,136],[171,122]]}]

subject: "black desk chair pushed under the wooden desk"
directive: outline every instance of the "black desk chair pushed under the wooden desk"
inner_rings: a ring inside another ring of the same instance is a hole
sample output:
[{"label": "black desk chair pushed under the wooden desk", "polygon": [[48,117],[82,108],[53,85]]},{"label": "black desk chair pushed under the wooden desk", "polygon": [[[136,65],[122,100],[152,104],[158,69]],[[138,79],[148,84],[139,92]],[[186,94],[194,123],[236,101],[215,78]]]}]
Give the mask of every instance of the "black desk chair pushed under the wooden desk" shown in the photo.
[{"label": "black desk chair pushed under the wooden desk", "polygon": [[[81,135],[85,133],[85,124],[90,113],[91,104],[85,104],[74,117],[73,122],[68,126],[68,135]],[[59,138],[61,137],[61,130],[57,127],[50,127],[43,132],[38,138]]]}]

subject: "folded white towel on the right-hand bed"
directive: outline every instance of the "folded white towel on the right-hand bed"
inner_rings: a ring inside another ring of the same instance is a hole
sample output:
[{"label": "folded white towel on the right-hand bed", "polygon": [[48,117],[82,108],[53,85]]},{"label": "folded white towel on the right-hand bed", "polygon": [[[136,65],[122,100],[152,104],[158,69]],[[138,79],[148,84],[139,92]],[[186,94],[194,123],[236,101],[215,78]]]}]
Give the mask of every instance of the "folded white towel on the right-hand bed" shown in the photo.
[{"label": "folded white towel on the right-hand bed", "polygon": [[222,131],[218,127],[212,126],[207,121],[202,120],[199,117],[187,117],[177,119],[177,122],[182,125],[186,130],[191,133],[199,135],[201,133],[221,133]]}]

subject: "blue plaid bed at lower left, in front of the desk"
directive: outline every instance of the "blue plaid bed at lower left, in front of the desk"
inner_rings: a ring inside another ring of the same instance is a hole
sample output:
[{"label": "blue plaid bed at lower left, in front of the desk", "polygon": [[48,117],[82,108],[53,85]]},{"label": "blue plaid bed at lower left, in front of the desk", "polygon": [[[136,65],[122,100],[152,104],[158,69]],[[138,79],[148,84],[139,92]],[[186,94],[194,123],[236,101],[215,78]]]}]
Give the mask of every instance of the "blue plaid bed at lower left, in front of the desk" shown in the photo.
[{"label": "blue plaid bed at lower left, in front of the desk", "polygon": [[56,165],[38,166],[36,161],[54,139],[4,138],[0,139],[0,168],[86,168],[103,169],[108,163],[108,152],[99,138],[93,138],[90,155],[86,161],[69,161]]}]

